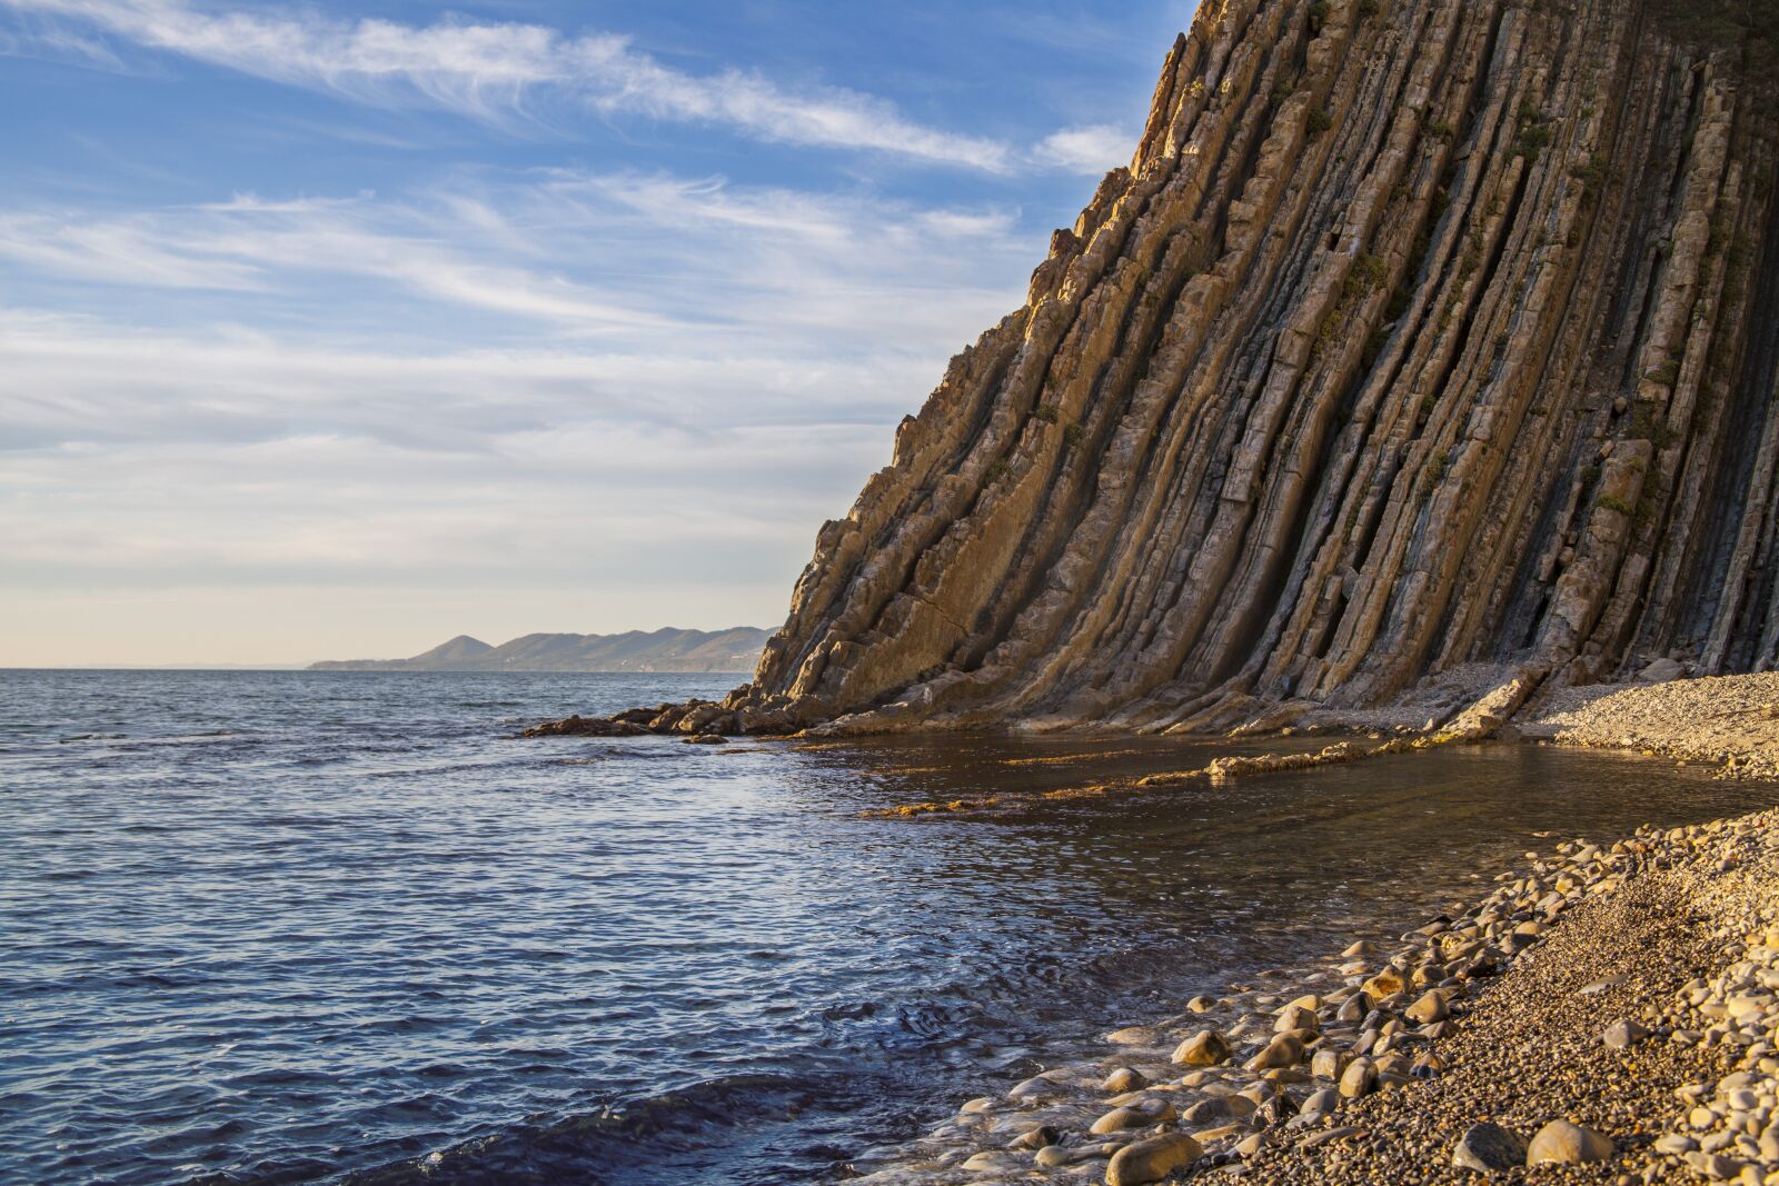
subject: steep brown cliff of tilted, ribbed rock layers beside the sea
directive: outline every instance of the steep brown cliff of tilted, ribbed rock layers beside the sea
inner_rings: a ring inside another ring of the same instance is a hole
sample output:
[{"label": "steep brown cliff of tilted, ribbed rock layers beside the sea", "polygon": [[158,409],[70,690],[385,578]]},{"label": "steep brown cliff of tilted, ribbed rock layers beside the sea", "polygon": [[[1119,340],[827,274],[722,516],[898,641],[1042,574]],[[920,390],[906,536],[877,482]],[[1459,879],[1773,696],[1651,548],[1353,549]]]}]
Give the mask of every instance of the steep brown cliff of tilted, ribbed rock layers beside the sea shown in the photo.
[{"label": "steep brown cliff of tilted, ribbed rock layers beside the sea", "polygon": [[1692,25],[1203,0],[754,683],[664,724],[1204,729],[1473,663],[1772,665],[1779,108],[1767,41]]}]

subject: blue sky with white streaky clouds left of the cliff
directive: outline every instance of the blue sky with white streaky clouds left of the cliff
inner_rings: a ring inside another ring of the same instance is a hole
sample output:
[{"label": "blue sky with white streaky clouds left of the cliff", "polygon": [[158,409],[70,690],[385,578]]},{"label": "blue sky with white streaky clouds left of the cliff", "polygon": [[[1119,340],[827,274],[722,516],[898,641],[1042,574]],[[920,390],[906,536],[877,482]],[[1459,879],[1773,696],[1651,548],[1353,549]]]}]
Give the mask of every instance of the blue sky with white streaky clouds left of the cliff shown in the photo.
[{"label": "blue sky with white streaky clouds left of the cliff", "polygon": [[0,667],[777,626],[1190,0],[0,0]]}]

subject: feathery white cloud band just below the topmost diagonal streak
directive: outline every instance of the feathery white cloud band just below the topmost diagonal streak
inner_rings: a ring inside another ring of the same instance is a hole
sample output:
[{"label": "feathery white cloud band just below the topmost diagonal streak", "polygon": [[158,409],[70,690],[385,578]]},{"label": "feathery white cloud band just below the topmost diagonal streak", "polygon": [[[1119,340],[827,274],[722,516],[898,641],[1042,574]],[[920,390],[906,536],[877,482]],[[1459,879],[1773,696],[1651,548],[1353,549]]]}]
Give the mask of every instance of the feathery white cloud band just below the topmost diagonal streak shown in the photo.
[{"label": "feathery white cloud band just below the topmost diagonal streak", "polygon": [[509,331],[672,350],[735,334],[786,350],[811,333],[850,345],[957,336],[1016,302],[1014,277],[1034,252],[1005,208],[658,172],[475,172],[400,199],[0,210],[0,260],[16,279],[263,299],[368,279],[407,301],[502,315]]}]

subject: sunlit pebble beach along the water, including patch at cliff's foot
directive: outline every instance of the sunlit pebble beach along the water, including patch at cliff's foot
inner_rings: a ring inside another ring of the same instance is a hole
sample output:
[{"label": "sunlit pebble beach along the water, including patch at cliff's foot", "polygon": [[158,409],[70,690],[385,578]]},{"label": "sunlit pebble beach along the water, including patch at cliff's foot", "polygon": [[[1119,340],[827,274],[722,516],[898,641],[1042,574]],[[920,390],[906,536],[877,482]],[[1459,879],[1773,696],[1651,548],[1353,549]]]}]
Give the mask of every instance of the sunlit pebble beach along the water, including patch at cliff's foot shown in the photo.
[{"label": "sunlit pebble beach along the water, including patch at cliff's foot", "polygon": [[[1775,676],[1583,688],[1521,736],[1768,777],[1775,702]],[[961,1101],[863,1181],[1779,1186],[1775,823],[1528,852],[1397,942],[1270,969]]]}]

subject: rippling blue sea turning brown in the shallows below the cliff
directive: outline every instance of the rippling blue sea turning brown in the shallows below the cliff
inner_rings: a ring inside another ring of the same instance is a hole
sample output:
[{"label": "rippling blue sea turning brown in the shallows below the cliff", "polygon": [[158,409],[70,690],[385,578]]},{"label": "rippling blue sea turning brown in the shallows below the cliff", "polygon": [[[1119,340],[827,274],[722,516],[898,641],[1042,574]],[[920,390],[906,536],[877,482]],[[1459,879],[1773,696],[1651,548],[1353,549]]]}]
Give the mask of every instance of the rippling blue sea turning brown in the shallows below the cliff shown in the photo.
[{"label": "rippling blue sea turning brown in the shallows below the cliff", "polygon": [[511,736],[729,683],[0,672],[0,1179],[838,1175],[1535,832],[1779,798],[1491,747],[1018,807],[1240,747]]}]

